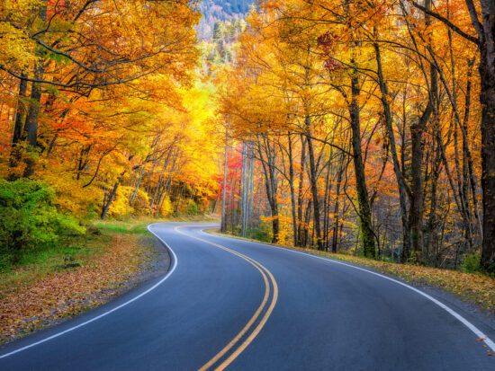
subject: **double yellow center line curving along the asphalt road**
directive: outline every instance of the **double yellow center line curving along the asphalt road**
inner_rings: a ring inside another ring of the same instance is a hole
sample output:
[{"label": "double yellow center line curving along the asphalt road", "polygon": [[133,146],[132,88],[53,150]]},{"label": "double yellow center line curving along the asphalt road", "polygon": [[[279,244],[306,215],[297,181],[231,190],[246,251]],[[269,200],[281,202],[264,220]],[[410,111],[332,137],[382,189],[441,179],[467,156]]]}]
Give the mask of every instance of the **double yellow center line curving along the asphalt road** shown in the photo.
[{"label": "double yellow center line curving along the asphalt road", "polygon": [[[201,241],[202,243],[208,243],[211,244],[215,247],[218,247],[221,250],[224,250],[226,252],[230,252],[234,255],[237,255],[239,258],[244,259],[247,261],[249,264],[251,264],[253,267],[255,267],[260,273],[261,276],[263,277],[263,280],[265,282],[265,296],[263,296],[263,300],[261,302],[261,305],[257,307],[257,311],[253,316],[249,319],[249,321],[246,323],[246,325],[243,327],[241,331],[238,332],[238,334],[232,339],[229,344],[227,344],[223,349],[218,352],[215,357],[211,358],[207,363],[205,363],[199,371],[205,371],[209,369],[210,367],[213,367],[216,363],[218,363],[219,359],[225,356],[229,351],[231,351],[230,355],[228,358],[226,358],[223,362],[220,363],[218,367],[215,367],[215,370],[223,370],[226,367],[228,367],[234,359],[238,358],[239,354],[244,351],[244,349],[249,346],[249,344],[255,340],[257,337],[257,334],[263,329],[263,327],[266,324],[266,321],[268,321],[268,318],[274,311],[276,301],[278,298],[278,286],[276,284],[275,278],[272,275],[272,273],[266,269],[262,264],[259,262],[255,261],[254,259],[249,258],[248,256],[241,254],[240,252],[236,252],[234,250],[231,250],[225,246],[222,246],[218,243],[211,243],[210,241],[203,240],[202,238],[195,237],[191,234],[185,234],[182,231],[179,231],[179,228],[181,226],[176,226],[175,231],[178,232],[179,234],[184,234],[190,238],[193,238],[195,240]],[[271,285],[270,285],[271,282]],[[270,303],[268,304],[268,300],[270,298],[271,294],[271,287],[273,287],[273,295],[272,299],[270,300]],[[266,309],[266,306],[268,309]],[[257,326],[252,328],[255,322],[257,322],[258,317],[264,312],[266,309],[265,314],[261,318],[261,320],[257,323]],[[244,341],[240,342],[241,339],[246,338]],[[239,344],[240,342],[240,344]],[[237,347],[237,348],[235,348]],[[232,351],[233,349],[233,351]]]}]

